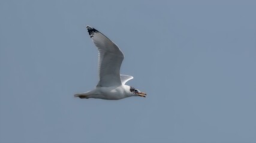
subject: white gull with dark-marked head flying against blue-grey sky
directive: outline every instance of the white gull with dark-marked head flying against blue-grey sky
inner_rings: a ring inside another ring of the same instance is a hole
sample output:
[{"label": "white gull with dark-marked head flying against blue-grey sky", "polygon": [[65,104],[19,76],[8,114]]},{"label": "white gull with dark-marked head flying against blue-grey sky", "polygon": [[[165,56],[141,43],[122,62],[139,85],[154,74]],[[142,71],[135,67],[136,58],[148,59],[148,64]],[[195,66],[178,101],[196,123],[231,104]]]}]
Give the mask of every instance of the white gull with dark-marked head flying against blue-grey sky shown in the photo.
[{"label": "white gull with dark-marked head flying against blue-grey sky", "polygon": [[121,100],[127,97],[146,97],[146,93],[140,92],[132,86],[125,85],[132,76],[120,74],[120,67],[124,60],[124,54],[116,43],[107,38],[103,33],[86,26],[88,33],[98,49],[98,67],[100,81],[92,91],[75,94],[79,98],[100,98],[103,100]]}]

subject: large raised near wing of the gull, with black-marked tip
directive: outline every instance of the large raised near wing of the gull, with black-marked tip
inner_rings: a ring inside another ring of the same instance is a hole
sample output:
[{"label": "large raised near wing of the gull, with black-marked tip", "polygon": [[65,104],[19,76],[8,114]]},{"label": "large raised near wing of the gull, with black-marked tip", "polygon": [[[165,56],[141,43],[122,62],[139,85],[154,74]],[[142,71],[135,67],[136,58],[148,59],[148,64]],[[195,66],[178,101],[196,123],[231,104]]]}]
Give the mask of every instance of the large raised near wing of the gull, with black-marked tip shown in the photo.
[{"label": "large raised near wing of the gull, with black-marked tip", "polygon": [[109,87],[122,85],[120,67],[124,60],[123,52],[114,42],[103,35],[103,33],[90,26],[86,28],[99,52],[98,70],[100,81],[97,86]]}]

